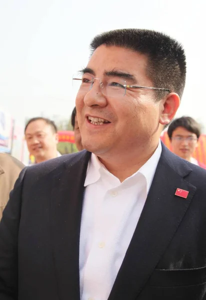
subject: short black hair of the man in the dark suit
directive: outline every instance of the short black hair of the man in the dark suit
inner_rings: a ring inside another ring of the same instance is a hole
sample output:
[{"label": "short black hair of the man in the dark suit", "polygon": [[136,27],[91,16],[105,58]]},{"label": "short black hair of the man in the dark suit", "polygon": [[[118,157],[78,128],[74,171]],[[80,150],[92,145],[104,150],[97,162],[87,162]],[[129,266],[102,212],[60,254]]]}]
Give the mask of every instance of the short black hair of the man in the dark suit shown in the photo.
[{"label": "short black hair of the man in the dark suit", "polygon": [[[100,45],[119,46],[145,54],[147,75],[154,87],[167,88],[181,98],[186,77],[182,45],[170,36],[147,29],[116,29],[96,35],[90,43],[91,54]],[[162,92],[157,92],[160,99]]]}]

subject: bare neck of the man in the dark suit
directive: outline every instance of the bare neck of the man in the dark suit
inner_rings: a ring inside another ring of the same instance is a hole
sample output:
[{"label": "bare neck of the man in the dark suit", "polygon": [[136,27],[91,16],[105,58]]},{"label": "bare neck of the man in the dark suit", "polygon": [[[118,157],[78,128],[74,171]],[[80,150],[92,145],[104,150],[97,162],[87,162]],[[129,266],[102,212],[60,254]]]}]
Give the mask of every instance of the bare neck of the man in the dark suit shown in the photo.
[{"label": "bare neck of the man in the dark suit", "polygon": [[158,142],[146,145],[140,149],[124,151],[122,155],[97,155],[107,170],[117,177],[120,182],[134,174],[154,153]]}]

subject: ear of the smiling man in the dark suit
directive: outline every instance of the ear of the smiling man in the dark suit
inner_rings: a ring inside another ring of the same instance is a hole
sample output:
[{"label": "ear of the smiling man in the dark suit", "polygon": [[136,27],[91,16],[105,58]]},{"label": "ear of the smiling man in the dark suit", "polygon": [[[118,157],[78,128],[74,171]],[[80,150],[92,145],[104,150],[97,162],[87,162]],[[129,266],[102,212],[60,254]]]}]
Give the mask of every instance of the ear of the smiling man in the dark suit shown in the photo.
[{"label": "ear of the smiling man in the dark suit", "polygon": [[180,99],[177,93],[170,92],[161,101],[162,103],[161,103],[159,123],[162,125],[166,125],[173,119],[179,107]]}]

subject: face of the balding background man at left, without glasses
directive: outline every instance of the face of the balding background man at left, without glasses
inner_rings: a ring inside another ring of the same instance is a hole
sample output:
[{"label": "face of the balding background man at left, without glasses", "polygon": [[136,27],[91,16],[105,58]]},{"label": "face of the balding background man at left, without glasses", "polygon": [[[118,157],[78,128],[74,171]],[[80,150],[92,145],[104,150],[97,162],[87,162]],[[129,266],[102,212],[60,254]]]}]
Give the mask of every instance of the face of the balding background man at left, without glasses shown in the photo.
[{"label": "face of the balding background man at left, without glasses", "polygon": [[56,152],[57,133],[44,120],[36,120],[28,124],[25,131],[28,151],[36,159],[49,159]]}]

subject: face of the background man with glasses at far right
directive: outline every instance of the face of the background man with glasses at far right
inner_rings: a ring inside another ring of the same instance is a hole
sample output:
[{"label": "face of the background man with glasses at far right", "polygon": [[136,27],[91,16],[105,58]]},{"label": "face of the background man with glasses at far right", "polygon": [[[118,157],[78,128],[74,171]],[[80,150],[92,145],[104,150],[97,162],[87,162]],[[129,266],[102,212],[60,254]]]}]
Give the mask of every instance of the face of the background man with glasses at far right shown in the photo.
[{"label": "face of the background man with glasses at far right", "polygon": [[171,147],[173,153],[189,160],[197,147],[197,136],[184,127],[177,127],[172,132]]}]

